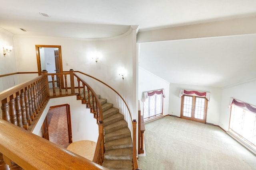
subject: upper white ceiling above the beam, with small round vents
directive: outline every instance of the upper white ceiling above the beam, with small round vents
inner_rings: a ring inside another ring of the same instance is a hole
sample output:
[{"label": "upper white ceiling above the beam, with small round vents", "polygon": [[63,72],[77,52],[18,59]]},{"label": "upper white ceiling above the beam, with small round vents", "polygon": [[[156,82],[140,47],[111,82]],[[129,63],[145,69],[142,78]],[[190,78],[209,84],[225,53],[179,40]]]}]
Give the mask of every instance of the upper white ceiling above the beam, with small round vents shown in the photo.
[{"label": "upper white ceiling above the beam, with small round vents", "polygon": [[72,38],[113,37],[128,25],[143,31],[248,16],[256,16],[255,0],[1,0],[0,5],[0,27],[15,35]]}]

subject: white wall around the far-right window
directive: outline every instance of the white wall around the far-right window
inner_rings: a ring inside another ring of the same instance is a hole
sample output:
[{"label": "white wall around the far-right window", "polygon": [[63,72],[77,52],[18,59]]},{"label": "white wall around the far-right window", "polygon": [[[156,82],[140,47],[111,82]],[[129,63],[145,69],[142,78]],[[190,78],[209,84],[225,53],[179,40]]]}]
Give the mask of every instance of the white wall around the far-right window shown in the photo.
[{"label": "white wall around the far-right window", "polygon": [[220,127],[228,131],[230,119],[230,109],[228,109],[228,105],[230,104],[230,98],[235,98],[256,106],[255,87],[256,80],[222,89],[222,98],[220,100]]}]

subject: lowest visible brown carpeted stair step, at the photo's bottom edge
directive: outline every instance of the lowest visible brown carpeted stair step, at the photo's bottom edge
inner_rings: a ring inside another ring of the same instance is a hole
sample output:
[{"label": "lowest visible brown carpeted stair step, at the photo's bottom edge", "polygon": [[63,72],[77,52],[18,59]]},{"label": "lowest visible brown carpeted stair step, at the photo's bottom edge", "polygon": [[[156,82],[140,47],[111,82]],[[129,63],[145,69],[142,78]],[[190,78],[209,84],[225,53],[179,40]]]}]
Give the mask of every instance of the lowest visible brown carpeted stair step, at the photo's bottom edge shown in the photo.
[{"label": "lowest visible brown carpeted stair step, at the photo's bottom edge", "polygon": [[102,166],[110,170],[132,170],[132,160],[104,160]]}]

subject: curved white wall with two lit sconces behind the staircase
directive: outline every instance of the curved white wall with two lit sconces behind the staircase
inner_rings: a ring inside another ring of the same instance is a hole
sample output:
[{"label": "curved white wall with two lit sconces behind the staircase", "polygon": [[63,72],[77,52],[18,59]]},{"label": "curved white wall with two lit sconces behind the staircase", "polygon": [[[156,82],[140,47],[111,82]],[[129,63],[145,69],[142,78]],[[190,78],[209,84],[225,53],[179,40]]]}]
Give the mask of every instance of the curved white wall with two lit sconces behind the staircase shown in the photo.
[{"label": "curved white wall with two lit sconces behind the staircase", "polygon": [[[134,58],[136,58],[135,27],[132,27],[126,34],[114,38],[68,39],[14,36],[14,44],[20,72],[38,71],[35,45],[60,45],[63,71],[79,70],[106,82],[124,98],[132,116],[136,116],[137,101],[134,101],[136,81],[133,77],[136,72],[136,67],[133,65]],[[95,52],[100,53],[97,56],[99,57],[98,63],[92,59],[95,56],[91,54]],[[122,69],[125,70],[124,80],[118,75],[122,74],[120,72]],[[125,106],[122,104],[120,107]],[[130,119],[129,113],[125,119]]]}]

